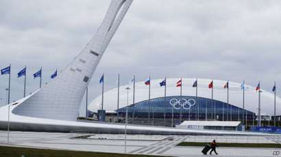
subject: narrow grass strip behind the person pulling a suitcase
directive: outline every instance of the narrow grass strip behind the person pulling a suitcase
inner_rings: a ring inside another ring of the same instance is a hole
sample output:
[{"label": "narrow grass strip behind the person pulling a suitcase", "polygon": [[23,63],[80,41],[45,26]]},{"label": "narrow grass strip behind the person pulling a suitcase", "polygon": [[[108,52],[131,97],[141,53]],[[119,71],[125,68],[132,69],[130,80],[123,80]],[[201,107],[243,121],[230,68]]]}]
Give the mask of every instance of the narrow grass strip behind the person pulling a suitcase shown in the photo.
[{"label": "narrow grass strip behind the person pulling a suitcase", "polygon": [[[264,147],[264,148],[281,148],[278,143],[217,143],[219,147]],[[204,142],[182,142],[178,146],[197,146],[204,147]]]}]

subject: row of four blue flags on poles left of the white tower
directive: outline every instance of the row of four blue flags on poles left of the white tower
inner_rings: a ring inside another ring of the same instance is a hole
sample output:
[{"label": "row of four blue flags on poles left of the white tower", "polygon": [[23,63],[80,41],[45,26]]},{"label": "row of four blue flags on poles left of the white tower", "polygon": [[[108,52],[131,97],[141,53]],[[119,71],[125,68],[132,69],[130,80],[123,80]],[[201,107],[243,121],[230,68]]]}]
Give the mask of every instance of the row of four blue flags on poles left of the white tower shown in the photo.
[{"label": "row of four blue flags on poles left of the white tower", "polygon": [[[10,104],[10,87],[11,87],[11,64],[10,66],[6,67],[6,68],[2,68],[1,69],[1,75],[5,75],[5,74],[9,74],[9,80],[8,80],[8,104]],[[26,96],[26,76],[27,76],[27,67],[25,66],[25,68],[23,68],[22,70],[20,70],[17,75],[18,78],[21,76],[25,76],[24,77],[24,86],[23,86],[23,97]],[[51,74],[51,78],[55,78],[58,74],[58,70],[56,70],[56,72],[54,72],[53,74]],[[40,70],[38,70],[38,72],[35,72],[33,74],[34,78],[40,77],[40,85],[39,87],[42,87],[42,68],[40,68]]]}]

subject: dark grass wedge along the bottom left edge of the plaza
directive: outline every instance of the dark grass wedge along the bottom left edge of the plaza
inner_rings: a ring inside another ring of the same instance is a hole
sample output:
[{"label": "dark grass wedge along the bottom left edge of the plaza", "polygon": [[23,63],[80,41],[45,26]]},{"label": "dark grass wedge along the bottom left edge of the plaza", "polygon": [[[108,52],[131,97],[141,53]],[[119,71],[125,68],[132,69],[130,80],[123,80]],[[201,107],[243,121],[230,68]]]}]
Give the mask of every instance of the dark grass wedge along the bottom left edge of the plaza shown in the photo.
[{"label": "dark grass wedge along the bottom left edge of the plaza", "polygon": [[[97,150],[98,151],[98,150]],[[25,147],[5,147],[0,146],[0,156],[25,156],[25,157],[145,157],[148,155],[134,154],[113,154],[113,153],[98,153],[98,152],[78,152],[67,150],[54,149],[34,149]],[[153,157],[153,156],[150,156]]]}]

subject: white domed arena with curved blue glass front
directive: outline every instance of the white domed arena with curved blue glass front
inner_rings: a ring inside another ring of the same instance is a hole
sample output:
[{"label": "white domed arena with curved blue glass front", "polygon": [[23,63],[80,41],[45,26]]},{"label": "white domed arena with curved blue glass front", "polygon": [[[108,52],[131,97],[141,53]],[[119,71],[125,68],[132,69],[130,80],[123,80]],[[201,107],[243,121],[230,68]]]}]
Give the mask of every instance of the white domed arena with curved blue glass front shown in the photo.
[{"label": "white domed arena with curved blue glass front", "polygon": [[[132,84],[122,85],[119,92],[119,106],[117,109],[117,88],[104,93],[104,109],[116,111],[121,117],[125,117],[127,106],[127,90],[129,91],[128,108],[130,123],[149,124],[159,126],[171,126],[181,124],[185,120],[219,120],[219,121],[248,121],[255,120],[258,113],[258,92],[255,87],[245,85],[245,108],[243,110],[243,91],[240,83],[229,82],[229,103],[227,102],[227,89],[223,88],[227,81],[213,81],[213,100],[211,89],[208,84],[211,79],[198,78],[198,94],[195,95],[195,87],[192,87],[196,78],[182,78],[182,96],[180,87],[176,83],[180,78],[167,78],[167,96],[164,97],[164,87],[160,87],[163,79],[151,80],[151,96],[149,100],[149,87],[145,81],[136,83],[135,102],[133,104]],[[281,115],[281,99],[277,96],[276,113]],[[90,103],[88,109],[97,111],[101,103],[101,96],[98,96]],[[274,95],[262,89],[261,113],[262,119],[267,119],[274,113]],[[165,121],[163,121],[165,119]]]}]

